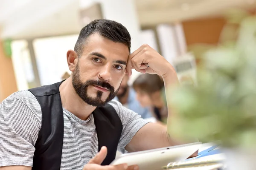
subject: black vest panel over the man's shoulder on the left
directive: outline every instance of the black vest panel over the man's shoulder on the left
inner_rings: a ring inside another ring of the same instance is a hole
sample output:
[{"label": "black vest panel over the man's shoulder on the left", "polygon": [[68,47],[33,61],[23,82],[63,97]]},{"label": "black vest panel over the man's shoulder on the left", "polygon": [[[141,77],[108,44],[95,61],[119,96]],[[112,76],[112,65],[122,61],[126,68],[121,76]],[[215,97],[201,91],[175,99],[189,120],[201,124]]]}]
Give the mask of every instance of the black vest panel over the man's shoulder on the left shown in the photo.
[{"label": "black vest panel over the man's shoulder on the left", "polygon": [[35,143],[32,170],[59,170],[64,136],[64,119],[59,94],[62,82],[29,91],[41,105],[42,126]]}]

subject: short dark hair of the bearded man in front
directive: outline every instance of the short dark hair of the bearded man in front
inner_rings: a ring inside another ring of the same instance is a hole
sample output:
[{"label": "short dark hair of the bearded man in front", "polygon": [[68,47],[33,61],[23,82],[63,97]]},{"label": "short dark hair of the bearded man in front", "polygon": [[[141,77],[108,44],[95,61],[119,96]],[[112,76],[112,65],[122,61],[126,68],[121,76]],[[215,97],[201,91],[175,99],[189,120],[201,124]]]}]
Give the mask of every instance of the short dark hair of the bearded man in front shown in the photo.
[{"label": "short dark hair of the bearded man in front", "polygon": [[120,42],[127,45],[131,53],[131,35],[125,26],[116,21],[102,19],[94,20],[81,29],[74,48],[74,51],[76,51],[79,56],[81,56],[84,50],[86,39],[94,33],[99,33],[102,37],[113,42]]}]

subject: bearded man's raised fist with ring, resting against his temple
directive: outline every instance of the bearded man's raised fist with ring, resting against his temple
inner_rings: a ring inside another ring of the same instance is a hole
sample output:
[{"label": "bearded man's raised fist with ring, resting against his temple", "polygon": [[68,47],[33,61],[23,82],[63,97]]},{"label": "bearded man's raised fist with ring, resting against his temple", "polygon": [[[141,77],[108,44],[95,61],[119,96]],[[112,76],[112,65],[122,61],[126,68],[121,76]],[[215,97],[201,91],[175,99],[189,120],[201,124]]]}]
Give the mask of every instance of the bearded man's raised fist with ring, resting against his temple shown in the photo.
[{"label": "bearded man's raised fist with ring, resting against his temple", "polygon": [[175,69],[163,56],[146,44],[129,55],[126,67],[128,76],[131,76],[132,68],[143,74],[158,74],[159,76],[165,76],[170,71],[175,72]]}]

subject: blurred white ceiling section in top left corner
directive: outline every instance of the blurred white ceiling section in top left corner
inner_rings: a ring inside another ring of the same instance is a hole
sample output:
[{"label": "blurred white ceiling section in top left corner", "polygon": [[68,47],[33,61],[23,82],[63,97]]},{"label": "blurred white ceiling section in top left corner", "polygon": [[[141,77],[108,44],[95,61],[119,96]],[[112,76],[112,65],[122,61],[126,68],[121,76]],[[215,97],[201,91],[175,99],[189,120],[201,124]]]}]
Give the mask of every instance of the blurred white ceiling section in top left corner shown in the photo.
[{"label": "blurred white ceiling section in top left corner", "polygon": [[81,29],[79,0],[0,0],[0,4],[0,33],[3,38],[74,34]]}]

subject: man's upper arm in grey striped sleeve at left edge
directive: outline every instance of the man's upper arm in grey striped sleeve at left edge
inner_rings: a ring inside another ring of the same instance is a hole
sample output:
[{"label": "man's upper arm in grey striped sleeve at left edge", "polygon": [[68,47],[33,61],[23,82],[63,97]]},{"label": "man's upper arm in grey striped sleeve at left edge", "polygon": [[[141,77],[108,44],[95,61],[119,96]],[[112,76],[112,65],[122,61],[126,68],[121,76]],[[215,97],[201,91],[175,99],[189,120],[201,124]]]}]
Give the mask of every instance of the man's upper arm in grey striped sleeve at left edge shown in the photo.
[{"label": "man's upper arm in grey striped sleeve at left edge", "polygon": [[[0,170],[30,170],[40,120],[26,102],[25,92],[18,92],[0,104]],[[40,107],[40,105],[39,105]]]}]

